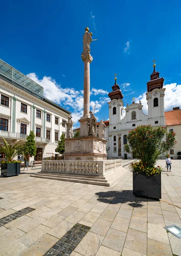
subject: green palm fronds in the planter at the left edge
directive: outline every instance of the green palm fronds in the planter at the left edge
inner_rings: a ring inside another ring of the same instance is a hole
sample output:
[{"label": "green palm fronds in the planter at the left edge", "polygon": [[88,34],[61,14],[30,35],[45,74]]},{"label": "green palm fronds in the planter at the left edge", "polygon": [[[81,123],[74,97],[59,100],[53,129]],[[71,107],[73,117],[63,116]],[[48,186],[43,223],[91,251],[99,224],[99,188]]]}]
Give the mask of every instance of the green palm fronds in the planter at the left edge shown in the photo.
[{"label": "green palm fronds in the planter at the left edge", "polygon": [[14,160],[14,157],[16,157],[18,154],[23,153],[23,145],[14,144],[10,145],[9,142],[3,138],[4,145],[0,146],[0,152],[4,152],[6,155],[7,160],[12,163]]}]

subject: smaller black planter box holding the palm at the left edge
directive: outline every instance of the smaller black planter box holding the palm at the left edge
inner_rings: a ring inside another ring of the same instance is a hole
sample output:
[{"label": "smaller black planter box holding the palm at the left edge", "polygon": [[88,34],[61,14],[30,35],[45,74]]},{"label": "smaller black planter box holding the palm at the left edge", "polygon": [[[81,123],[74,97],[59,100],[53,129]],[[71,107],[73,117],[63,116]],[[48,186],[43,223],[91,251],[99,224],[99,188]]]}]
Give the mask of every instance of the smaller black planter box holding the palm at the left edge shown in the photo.
[{"label": "smaller black planter box holding the palm at the left edge", "polygon": [[1,164],[1,175],[3,177],[16,176],[18,174],[20,174],[20,163]]}]

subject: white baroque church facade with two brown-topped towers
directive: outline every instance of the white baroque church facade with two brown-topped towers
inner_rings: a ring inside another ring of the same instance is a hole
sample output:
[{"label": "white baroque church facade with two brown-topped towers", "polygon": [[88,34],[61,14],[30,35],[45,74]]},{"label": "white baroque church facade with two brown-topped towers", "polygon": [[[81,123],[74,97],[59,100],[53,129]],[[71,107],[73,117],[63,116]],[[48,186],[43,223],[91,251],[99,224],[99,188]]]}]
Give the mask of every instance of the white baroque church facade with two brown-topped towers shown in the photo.
[{"label": "white baroque church facade with two brown-topped towers", "polygon": [[[123,117],[123,95],[120,87],[116,82],[112,86],[112,92],[108,94],[111,99],[109,105],[109,127],[108,129],[108,154],[109,158],[124,158],[126,150],[124,148],[127,143],[127,135],[131,129],[138,125],[166,126],[164,114],[164,78],[159,77],[159,73],[154,70],[147,83],[147,104],[148,115],[142,111],[143,105],[141,101],[126,106],[126,115]],[[106,139],[106,138],[105,138]],[[108,146],[107,145],[107,146]],[[131,154],[127,154],[128,158],[134,158]]]}]

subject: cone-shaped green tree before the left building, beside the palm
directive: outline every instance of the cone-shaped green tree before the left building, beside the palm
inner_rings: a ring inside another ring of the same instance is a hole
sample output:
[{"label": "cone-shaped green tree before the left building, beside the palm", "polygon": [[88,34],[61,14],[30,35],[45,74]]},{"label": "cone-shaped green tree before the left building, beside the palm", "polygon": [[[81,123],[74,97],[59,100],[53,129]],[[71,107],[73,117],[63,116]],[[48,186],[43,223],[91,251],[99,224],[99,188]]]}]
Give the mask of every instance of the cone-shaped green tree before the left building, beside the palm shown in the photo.
[{"label": "cone-shaped green tree before the left building, beside the palm", "polygon": [[24,155],[25,156],[35,156],[37,154],[37,147],[36,147],[36,142],[34,140],[35,135],[34,131],[30,131],[29,136],[26,138],[26,143],[24,146]]}]

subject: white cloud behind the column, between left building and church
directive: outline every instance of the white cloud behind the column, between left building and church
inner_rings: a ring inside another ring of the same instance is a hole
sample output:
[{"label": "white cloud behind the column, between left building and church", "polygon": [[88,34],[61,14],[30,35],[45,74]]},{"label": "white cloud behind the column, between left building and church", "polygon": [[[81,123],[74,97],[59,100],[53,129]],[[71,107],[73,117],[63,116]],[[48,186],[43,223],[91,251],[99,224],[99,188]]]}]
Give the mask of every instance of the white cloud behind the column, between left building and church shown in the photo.
[{"label": "white cloud behind the column, between left building and church", "polygon": [[[74,126],[76,127],[79,125],[79,123],[77,123],[78,119],[83,116],[83,90],[75,90],[74,88],[62,88],[61,84],[57,84],[55,79],[47,76],[43,76],[43,79],[39,79],[36,73],[29,73],[27,76],[33,81],[37,82],[37,84],[43,86],[44,96],[47,99],[50,99],[52,102],[55,102],[61,107],[69,109],[70,111],[73,109],[72,119],[75,122]],[[92,88],[92,93],[94,93],[96,96],[105,95],[108,92],[103,89]],[[94,111],[94,107],[96,105],[95,113],[98,113],[108,100],[109,98],[107,97],[100,97],[98,100],[91,101],[91,110]]]}]

